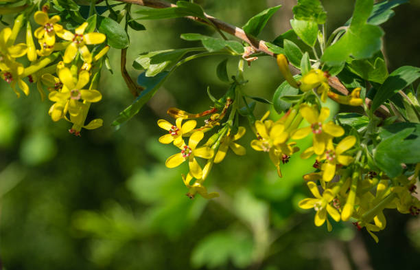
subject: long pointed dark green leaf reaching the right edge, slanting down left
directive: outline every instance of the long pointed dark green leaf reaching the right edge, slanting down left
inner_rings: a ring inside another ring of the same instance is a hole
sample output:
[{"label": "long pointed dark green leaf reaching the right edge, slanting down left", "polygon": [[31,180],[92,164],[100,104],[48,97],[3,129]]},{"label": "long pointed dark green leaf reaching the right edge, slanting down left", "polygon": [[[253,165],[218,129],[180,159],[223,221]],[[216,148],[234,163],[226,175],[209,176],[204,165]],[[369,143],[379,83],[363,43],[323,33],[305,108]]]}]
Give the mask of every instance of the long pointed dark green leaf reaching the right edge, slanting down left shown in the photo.
[{"label": "long pointed dark green leaf reaching the right edge, slanting down left", "polygon": [[418,67],[404,66],[393,71],[373,98],[371,112],[373,113],[383,102],[399,90],[408,87],[418,78],[420,78],[420,68]]}]

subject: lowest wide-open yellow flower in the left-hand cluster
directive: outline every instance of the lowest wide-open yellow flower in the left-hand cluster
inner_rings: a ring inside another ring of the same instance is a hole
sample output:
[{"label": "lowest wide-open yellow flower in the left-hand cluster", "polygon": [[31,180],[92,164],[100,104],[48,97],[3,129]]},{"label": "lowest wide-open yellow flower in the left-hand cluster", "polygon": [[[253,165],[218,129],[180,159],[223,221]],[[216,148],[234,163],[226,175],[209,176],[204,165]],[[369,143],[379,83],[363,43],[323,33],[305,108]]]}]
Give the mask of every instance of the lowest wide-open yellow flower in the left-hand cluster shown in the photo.
[{"label": "lowest wide-open yellow flower in the left-hand cluster", "polygon": [[98,102],[102,94],[97,90],[82,89],[89,82],[89,72],[80,71],[78,81],[75,83],[70,69],[67,67],[58,69],[58,77],[63,84],[61,91],[51,91],[49,100],[56,102],[50,108],[50,115],[53,121],[58,121],[65,116],[67,111],[73,116],[80,112],[78,100],[86,102]]}]

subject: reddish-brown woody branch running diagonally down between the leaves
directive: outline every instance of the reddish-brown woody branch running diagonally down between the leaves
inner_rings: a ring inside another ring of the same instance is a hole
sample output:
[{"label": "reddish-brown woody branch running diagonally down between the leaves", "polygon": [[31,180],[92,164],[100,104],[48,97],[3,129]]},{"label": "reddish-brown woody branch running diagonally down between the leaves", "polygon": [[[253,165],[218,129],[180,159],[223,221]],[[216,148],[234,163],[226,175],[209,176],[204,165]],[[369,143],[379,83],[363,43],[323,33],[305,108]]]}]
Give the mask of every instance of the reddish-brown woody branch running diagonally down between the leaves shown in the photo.
[{"label": "reddish-brown woody branch running diagonally down between the leaves", "polygon": [[[168,3],[166,1],[161,1],[161,0],[117,0],[117,1],[125,2],[125,3],[134,3],[136,5],[143,5],[149,8],[171,8],[171,7],[177,6],[173,3]],[[251,47],[253,47],[255,52],[264,52],[265,54],[268,54],[270,56],[275,56],[274,53],[268,50],[266,41],[261,41],[258,38],[248,35],[244,32],[242,28],[236,27],[229,23],[225,23],[224,21],[220,21],[219,19],[213,16],[210,16],[209,14],[205,13],[205,16],[211,22],[211,26],[217,27],[219,30],[222,30],[228,34],[231,34],[233,36],[236,36],[237,38],[240,38],[242,41],[245,41]],[[187,16],[187,18],[194,21],[198,21],[200,23],[205,23],[207,25],[210,25],[209,22],[203,19],[200,19],[198,17]],[[340,82],[340,80],[338,80],[337,77],[330,77],[328,80],[328,83],[331,87],[333,87],[334,89],[336,89],[343,95],[348,95],[349,91],[344,85],[342,85],[342,83]],[[365,102],[368,106],[370,106],[371,100],[369,98],[366,98]],[[382,118],[386,118],[390,116],[389,110],[384,105],[381,105],[380,108],[377,109],[375,114]]]}]

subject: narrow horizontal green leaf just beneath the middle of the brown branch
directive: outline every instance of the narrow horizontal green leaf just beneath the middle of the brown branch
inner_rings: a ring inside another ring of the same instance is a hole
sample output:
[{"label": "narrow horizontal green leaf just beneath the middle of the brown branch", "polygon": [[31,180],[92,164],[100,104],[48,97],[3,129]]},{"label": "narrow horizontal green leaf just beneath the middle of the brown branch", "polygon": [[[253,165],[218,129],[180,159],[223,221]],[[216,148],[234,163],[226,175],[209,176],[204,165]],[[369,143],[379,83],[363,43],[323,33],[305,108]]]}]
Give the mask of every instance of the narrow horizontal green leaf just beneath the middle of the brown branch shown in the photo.
[{"label": "narrow horizontal green leaf just beneath the middle of the brown branch", "polygon": [[220,51],[220,49],[223,49],[226,46],[237,54],[242,54],[244,52],[244,47],[237,41],[224,41],[220,38],[212,38],[211,36],[204,36],[197,33],[181,34],[180,38],[183,38],[185,41],[201,41],[202,45],[209,52]]}]

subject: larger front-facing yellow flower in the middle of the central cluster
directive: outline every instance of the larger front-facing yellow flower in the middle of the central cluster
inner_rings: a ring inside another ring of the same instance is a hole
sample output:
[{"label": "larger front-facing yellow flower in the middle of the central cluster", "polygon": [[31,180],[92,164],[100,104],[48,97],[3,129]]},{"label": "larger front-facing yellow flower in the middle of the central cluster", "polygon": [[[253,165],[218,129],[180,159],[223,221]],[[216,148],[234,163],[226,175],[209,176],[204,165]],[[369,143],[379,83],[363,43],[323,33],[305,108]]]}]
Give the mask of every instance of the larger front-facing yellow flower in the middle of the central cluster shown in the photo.
[{"label": "larger front-facing yellow flower in the middle of the central cluster", "polygon": [[204,146],[196,148],[202,137],[204,137],[204,133],[202,133],[202,131],[196,131],[189,137],[188,145],[183,144],[178,146],[181,149],[181,152],[166,159],[165,165],[167,168],[175,168],[188,160],[189,172],[191,172],[191,175],[194,178],[200,179],[202,177],[202,169],[195,157],[211,159],[214,155],[214,150],[209,147]]}]

